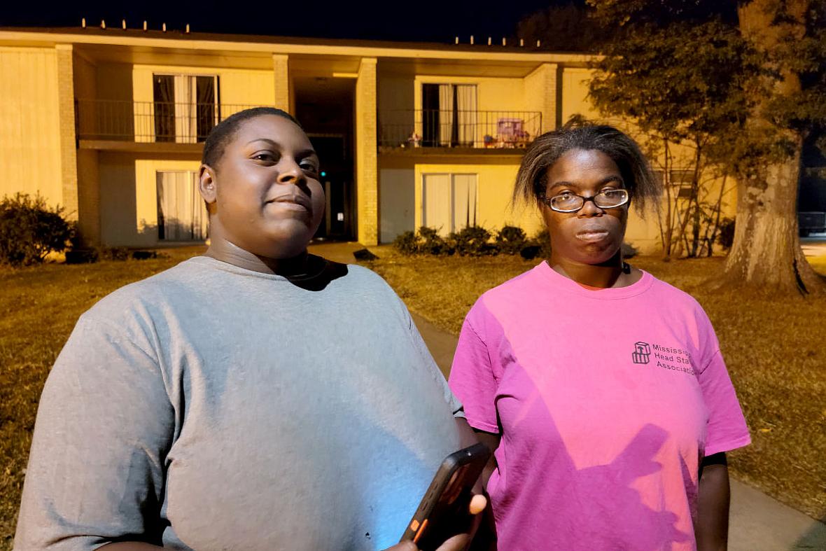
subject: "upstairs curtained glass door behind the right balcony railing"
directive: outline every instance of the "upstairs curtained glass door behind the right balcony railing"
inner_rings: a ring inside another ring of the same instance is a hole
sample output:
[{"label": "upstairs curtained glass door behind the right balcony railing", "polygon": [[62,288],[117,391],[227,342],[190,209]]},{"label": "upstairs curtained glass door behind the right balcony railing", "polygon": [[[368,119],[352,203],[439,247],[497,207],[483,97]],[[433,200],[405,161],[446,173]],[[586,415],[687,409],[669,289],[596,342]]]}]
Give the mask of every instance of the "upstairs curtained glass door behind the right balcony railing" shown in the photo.
[{"label": "upstairs curtained glass door behind the right balcony railing", "polygon": [[422,84],[422,145],[472,147],[476,140],[476,84]]}]

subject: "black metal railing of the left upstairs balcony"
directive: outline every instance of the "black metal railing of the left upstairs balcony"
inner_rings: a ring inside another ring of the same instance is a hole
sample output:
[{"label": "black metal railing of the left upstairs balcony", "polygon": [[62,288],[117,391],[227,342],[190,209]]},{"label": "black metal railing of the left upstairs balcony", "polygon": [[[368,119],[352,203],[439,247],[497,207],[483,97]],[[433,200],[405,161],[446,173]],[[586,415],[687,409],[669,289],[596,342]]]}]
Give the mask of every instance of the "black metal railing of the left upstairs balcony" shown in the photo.
[{"label": "black metal railing of the left upstairs balcony", "polygon": [[79,140],[194,144],[206,140],[226,117],[249,107],[259,106],[78,99],[76,131]]}]

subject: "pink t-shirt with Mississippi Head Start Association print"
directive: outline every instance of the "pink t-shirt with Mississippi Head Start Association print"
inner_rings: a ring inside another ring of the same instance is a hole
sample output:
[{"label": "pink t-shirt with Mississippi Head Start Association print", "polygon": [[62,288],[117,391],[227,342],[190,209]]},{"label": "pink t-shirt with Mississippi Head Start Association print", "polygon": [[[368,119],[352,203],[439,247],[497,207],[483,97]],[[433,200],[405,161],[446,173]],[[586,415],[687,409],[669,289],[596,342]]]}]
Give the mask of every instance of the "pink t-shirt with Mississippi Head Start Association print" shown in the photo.
[{"label": "pink t-shirt with Mississippi Head Start Association print", "polygon": [[700,460],[750,442],[708,317],[650,273],[591,291],[548,264],[486,292],[450,387],[501,434],[499,549],[695,549]]}]

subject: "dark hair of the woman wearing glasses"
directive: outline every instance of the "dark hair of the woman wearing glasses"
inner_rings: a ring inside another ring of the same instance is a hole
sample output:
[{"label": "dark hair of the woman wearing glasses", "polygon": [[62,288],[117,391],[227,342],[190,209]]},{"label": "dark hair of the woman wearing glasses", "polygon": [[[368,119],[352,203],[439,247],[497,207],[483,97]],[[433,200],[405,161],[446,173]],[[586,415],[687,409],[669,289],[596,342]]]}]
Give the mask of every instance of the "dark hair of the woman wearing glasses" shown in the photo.
[{"label": "dark hair of the woman wearing glasses", "polygon": [[659,206],[662,186],[637,142],[614,126],[587,121],[545,132],[529,145],[516,173],[513,202],[539,202],[544,197],[548,169],[570,150],[596,150],[608,155],[619,168],[625,188],[640,214],[649,201]]}]

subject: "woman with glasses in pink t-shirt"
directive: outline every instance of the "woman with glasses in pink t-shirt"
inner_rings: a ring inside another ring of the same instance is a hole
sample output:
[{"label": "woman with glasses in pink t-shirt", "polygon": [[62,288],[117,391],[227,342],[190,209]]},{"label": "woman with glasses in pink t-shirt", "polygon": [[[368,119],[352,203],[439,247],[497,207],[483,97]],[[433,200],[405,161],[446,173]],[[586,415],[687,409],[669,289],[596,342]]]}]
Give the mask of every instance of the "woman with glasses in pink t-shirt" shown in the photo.
[{"label": "woman with glasses in pink t-shirt", "polygon": [[626,264],[630,204],[659,186],[610,126],[539,136],[515,199],[535,202],[545,262],[479,298],[450,373],[496,450],[499,549],[725,549],[725,452],[748,429],[708,317]]}]

